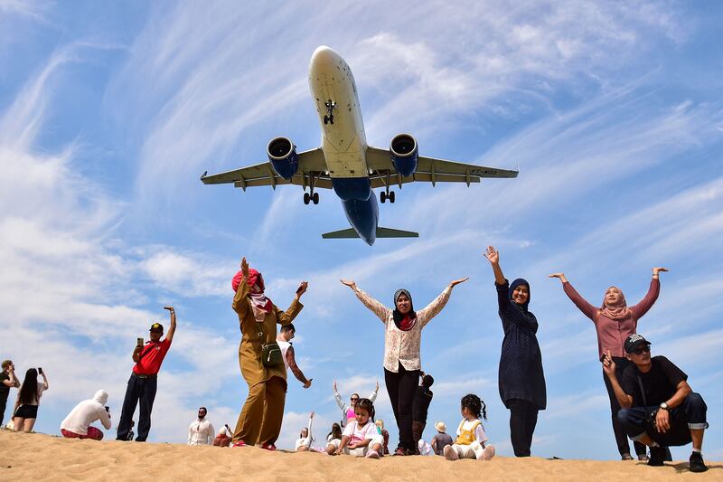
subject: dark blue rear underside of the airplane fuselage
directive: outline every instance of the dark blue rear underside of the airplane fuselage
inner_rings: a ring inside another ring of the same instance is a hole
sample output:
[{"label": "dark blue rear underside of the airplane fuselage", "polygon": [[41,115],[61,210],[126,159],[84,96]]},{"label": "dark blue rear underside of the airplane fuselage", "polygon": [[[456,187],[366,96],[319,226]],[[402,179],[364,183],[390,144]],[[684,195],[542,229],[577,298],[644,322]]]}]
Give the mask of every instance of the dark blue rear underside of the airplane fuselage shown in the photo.
[{"label": "dark blue rear underside of the airplane fuselage", "polygon": [[371,191],[369,177],[332,179],[334,193],[342,200],[346,219],[359,236],[370,246],[377,239],[379,206]]}]

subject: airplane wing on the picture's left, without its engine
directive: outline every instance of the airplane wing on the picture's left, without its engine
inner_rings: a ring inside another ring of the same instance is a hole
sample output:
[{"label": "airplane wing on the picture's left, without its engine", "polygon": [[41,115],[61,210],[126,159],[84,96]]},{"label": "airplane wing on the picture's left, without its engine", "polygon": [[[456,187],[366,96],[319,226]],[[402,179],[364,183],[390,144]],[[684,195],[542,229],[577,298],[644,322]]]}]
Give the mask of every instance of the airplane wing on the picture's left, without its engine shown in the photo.
[{"label": "airplane wing on the picture's left, without its engine", "polygon": [[331,189],[332,180],[324,174],[326,171],[326,162],[324,161],[324,152],[320,148],[311,149],[298,153],[299,167],[290,181],[287,181],[280,175],[277,175],[270,162],[257,165],[249,165],[227,171],[225,173],[206,175],[203,173],[201,180],[203,184],[233,184],[246,191],[247,187],[255,187],[259,185],[270,185],[276,189],[278,184],[296,184],[307,186],[311,184],[311,176],[314,175],[314,187],[322,189]]}]

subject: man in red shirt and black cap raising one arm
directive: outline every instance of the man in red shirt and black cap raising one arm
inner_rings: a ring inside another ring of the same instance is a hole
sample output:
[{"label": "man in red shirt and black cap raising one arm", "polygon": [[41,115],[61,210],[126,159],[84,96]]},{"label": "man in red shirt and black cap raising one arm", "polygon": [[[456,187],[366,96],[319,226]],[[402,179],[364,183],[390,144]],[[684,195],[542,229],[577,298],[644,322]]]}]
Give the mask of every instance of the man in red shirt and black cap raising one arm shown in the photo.
[{"label": "man in red shirt and black cap raising one arm", "polygon": [[165,354],[171,347],[171,341],[175,333],[175,310],[174,307],[164,307],[171,313],[171,327],[168,335],[164,335],[164,326],[160,323],[151,325],[151,339],[143,345],[143,339],[138,338],[138,345],[133,350],[133,373],[130,374],[126,389],[126,398],[123,400],[123,411],[120,413],[118,422],[117,440],[127,440],[128,432],[131,429],[133,413],[136,405],[140,402],[140,413],[138,415],[138,436],[136,442],[145,442],[148,432],[151,430],[151,411],[155,400],[155,389],[157,387],[158,371],[164,363]]}]

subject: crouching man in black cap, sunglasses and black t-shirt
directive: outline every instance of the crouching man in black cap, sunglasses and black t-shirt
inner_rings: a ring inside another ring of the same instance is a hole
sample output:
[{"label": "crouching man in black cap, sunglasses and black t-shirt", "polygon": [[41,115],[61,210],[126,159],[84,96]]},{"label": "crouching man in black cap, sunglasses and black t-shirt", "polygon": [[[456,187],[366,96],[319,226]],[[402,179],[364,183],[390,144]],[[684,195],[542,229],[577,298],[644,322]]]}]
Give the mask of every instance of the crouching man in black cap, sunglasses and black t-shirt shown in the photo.
[{"label": "crouching man in black cap, sunglasses and black t-shirt", "polygon": [[693,392],[688,375],[664,356],[650,354],[650,342],[633,334],[625,340],[625,353],[633,365],[621,380],[615,376],[610,353],[603,355],[603,370],[613,385],[615,397],[623,408],[617,420],[628,437],[650,447],[650,466],[662,466],[666,447],[693,442],[690,472],[708,470],[700,449],[703,430],[708,428],[703,398]]}]

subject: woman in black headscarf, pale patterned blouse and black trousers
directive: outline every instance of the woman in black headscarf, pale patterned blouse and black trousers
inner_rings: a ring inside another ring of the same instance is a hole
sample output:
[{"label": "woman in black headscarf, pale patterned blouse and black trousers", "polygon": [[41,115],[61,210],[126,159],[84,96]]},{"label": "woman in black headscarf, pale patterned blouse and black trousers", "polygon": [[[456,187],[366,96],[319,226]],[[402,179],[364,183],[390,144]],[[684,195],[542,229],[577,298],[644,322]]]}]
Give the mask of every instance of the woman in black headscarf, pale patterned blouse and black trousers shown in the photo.
[{"label": "woman in black headscarf, pale patterned blouse and black trousers", "polygon": [[413,455],[417,453],[417,444],[412,437],[412,404],[419,383],[421,369],[419,347],[422,328],[436,317],[445,307],[452,288],[464,283],[468,278],[456,279],[449,283],[442,293],[417,312],[412,306],[412,297],[406,289],[398,289],[394,294],[394,309],[382,305],[356,283],[342,279],[342,283],[352,288],[356,297],[384,324],[384,381],[390,395],[391,409],[399,427],[399,446],[395,455]]}]

